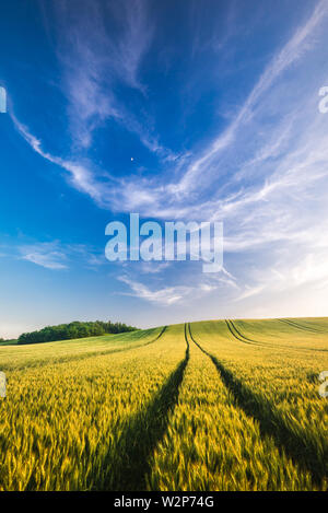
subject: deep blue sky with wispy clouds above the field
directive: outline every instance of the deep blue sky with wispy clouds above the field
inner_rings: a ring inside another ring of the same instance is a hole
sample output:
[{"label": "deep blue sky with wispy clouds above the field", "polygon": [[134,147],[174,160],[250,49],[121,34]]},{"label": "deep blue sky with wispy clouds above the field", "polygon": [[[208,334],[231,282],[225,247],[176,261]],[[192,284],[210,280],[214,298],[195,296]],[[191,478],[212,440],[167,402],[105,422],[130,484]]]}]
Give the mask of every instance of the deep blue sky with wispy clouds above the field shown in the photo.
[{"label": "deep blue sky with wispy clouds above the field", "polygon": [[[0,336],[326,315],[327,34],[325,0],[2,2]],[[130,212],[223,221],[223,271],[107,261]]]}]

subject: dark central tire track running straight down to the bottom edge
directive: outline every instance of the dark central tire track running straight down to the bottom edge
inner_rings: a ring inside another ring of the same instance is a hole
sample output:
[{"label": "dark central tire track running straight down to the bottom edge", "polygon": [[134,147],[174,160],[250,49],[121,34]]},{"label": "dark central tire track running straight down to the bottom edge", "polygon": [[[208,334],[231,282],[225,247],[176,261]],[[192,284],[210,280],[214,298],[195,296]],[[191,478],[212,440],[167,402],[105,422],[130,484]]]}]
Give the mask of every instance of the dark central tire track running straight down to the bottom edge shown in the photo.
[{"label": "dark central tire track running straight down to the bottom edge", "polygon": [[[105,490],[145,491],[151,471],[151,456],[163,440],[172,412],[178,400],[180,384],[189,361],[189,341],[185,325],[186,354],[152,401],[132,419],[118,441],[117,464],[114,474],[105,479]],[[110,458],[110,454],[108,455]],[[110,467],[112,468],[112,467]],[[95,485],[95,490],[102,488]]]}]

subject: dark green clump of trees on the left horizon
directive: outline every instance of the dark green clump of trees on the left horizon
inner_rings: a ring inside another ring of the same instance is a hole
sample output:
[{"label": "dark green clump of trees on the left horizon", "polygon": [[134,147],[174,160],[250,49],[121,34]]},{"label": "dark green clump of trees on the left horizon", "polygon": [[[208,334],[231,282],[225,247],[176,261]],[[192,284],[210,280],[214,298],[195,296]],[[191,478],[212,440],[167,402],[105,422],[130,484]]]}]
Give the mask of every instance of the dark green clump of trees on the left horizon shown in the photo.
[{"label": "dark green clump of trees on the left horizon", "polygon": [[134,331],[136,327],[127,326],[124,323],[112,323],[95,320],[80,323],[74,320],[70,324],[59,324],[58,326],[46,326],[38,331],[22,334],[17,343],[52,342],[55,340],[69,340],[72,338],[96,337],[106,334],[120,334]]}]

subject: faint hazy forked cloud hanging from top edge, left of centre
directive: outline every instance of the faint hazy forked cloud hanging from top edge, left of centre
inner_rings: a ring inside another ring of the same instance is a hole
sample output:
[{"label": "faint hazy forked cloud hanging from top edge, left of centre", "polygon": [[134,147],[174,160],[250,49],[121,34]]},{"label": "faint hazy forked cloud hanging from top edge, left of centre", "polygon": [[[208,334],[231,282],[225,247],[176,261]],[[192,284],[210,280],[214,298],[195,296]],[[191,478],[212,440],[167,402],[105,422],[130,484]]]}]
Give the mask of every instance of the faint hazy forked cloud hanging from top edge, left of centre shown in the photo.
[{"label": "faint hazy forked cloud hanging from top edge, left of centre", "polygon": [[[147,93],[139,68],[154,32],[148,2],[93,0],[75,10],[73,3],[61,0],[55,3],[55,12],[62,91],[69,101],[75,144],[89,148],[93,131],[112,118],[136,133],[151,152],[169,158],[172,153],[159,142],[159,137],[145,128],[147,120],[141,124],[116,94],[119,82],[141,96]],[[109,21],[116,23],[115,28]]]}]

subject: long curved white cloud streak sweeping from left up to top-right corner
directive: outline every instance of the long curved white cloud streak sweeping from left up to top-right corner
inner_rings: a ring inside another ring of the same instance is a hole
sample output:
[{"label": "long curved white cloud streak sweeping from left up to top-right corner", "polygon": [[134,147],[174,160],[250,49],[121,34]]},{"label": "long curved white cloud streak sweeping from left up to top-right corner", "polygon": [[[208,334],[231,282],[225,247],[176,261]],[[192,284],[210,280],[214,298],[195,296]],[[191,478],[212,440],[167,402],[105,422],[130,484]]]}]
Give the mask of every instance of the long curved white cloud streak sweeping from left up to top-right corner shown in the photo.
[{"label": "long curved white cloud streak sweeping from left up to top-right corner", "polygon": [[[207,180],[211,182],[211,176],[209,176],[207,173],[207,166],[210,165],[212,158],[216,158],[218,153],[226,150],[232,140],[234,140],[238,127],[251,119],[255,104],[258,102],[259,97],[263,95],[263,93],[271,86],[274,80],[289,66],[291,66],[291,63],[297,59],[301,59],[304,53],[308,49],[308,45],[306,45],[307,38],[313,34],[313,31],[326,15],[326,13],[327,4],[320,1],[315,8],[307,23],[295,32],[291,40],[284,46],[278,56],[272,59],[271,63],[262,73],[257,85],[254,88],[233,124],[211,144],[210,149],[200,159],[198,159],[191,166],[187,168],[184,177],[178,184],[171,183],[168,185],[159,186],[156,180],[153,180],[152,183],[144,178],[140,182],[140,179],[137,180],[133,177],[130,179],[115,179],[110,175],[108,175],[107,183],[104,180],[98,182],[92,168],[86,167],[79,161],[74,162],[65,160],[44,152],[42,150],[40,141],[34,138],[34,136],[30,133],[26,127],[23,127],[23,125],[17,120],[15,120],[15,125],[25,140],[36,152],[54,164],[57,164],[68,171],[72,178],[71,184],[79,190],[90,195],[97,202],[97,205],[103,208],[108,208],[114,211],[131,211],[133,209],[139,209],[142,213],[148,213],[154,217],[175,218],[179,215],[185,218],[187,215],[197,215],[198,211],[203,211],[206,212],[206,215],[208,215],[208,212],[213,212],[213,208],[215,209],[215,203],[221,203],[220,210],[222,214],[226,215],[231,210],[238,208],[238,205],[247,205],[248,202],[260,200],[261,195],[267,196],[269,189],[278,186],[278,182],[276,182],[276,184],[273,182],[271,182],[271,184],[265,184],[265,186],[262,186],[258,193],[251,194],[246,191],[243,194],[242,191],[242,196],[244,197],[241,200],[233,202],[229,201],[229,199],[216,201],[208,200],[206,202],[198,201],[198,207],[196,208],[195,202],[192,206],[184,205],[186,203],[185,193],[190,191],[189,186],[191,186],[191,183],[194,184],[192,188],[194,186],[196,187],[196,184],[197,187],[199,187],[200,184],[197,179],[199,173],[202,173],[203,176],[207,177]],[[132,68],[136,69],[134,66]],[[257,154],[253,159],[253,162],[250,161],[246,163],[245,166],[250,168],[251,166],[259,165],[260,162],[266,159],[266,156],[272,155],[273,151],[277,152],[280,144],[281,139],[280,141],[276,142],[274,148],[271,147],[269,150],[263,149],[262,155]],[[157,149],[161,148],[157,147],[156,143],[155,147]],[[241,176],[237,176],[241,179]],[[280,186],[282,186],[282,180],[280,180]],[[164,209],[162,203],[165,203]],[[161,205],[161,207],[156,209],[156,205]],[[220,215],[220,210],[218,211],[218,215]]]}]

